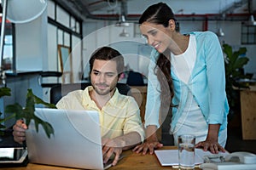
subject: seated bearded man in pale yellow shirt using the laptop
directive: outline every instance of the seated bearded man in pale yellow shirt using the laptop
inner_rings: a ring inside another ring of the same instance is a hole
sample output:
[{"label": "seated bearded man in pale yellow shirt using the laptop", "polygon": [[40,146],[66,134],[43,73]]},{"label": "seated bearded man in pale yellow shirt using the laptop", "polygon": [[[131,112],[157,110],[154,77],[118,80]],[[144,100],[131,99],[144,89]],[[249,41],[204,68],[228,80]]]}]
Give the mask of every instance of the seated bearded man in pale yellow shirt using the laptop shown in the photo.
[{"label": "seated bearded man in pale yellow shirt using the laptop", "polygon": [[[122,150],[141,143],[144,139],[139,108],[135,99],[119,94],[116,84],[124,69],[124,58],[113,48],[98,48],[90,57],[91,85],[84,90],[75,90],[64,96],[58,109],[98,111],[102,130],[103,160],[114,156],[113,166]],[[14,139],[25,140],[26,124],[17,121]]]}]

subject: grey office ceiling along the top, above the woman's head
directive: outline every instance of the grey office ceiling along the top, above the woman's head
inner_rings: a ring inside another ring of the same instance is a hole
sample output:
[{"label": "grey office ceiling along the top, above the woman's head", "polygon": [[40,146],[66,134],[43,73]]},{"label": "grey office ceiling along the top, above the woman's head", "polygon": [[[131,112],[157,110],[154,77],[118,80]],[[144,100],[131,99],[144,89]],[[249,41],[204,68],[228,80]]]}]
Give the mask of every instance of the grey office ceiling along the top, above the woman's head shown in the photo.
[{"label": "grey office ceiling along the top, above the woman's head", "polygon": [[[202,17],[219,14],[255,14],[255,0],[55,0],[80,20],[137,20],[145,8],[153,3],[164,2],[172,6],[179,17]],[[254,2],[254,4],[253,4]],[[239,17],[239,16],[236,16]],[[233,15],[234,18],[234,15]],[[195,19],[195,18],[194,18]]]}]

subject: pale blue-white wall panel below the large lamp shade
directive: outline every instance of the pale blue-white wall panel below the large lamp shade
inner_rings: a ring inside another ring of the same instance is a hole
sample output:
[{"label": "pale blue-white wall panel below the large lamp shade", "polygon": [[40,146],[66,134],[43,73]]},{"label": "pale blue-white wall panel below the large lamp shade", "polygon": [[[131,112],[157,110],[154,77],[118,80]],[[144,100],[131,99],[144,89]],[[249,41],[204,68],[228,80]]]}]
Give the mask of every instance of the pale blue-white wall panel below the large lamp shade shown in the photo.
[{"label": "pale blue-white wall panel below the large lamp shade", "polygon": [[47,14],[15,25],[16,69],[42,71],[47,65]]}]

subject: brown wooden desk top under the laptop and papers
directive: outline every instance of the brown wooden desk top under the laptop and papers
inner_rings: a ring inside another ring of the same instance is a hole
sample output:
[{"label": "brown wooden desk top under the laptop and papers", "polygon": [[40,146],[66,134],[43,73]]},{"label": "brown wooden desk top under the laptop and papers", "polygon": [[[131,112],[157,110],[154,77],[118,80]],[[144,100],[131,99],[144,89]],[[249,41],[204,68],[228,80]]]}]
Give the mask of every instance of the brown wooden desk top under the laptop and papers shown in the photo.
[{"label": "brown wooden desk top under the laptop and papers", "polygon": [[[176,149],[176,146],[165,146],[162,150],[172,150]],[[155,169],[174,169],[172,167],[161,167],[157,157],[155,155],[143,156],[142,154],[137,154],[132,152],[131,150],[126,150],[123,152],[125,157],[118,162],[115,167],[110,167],[109,170],[113,169],[147,169],[147,170],[155,170]],[[16,170],[17,167],[8,167],[6,170]],[[67,167],[54,167],[54,166],[45,166],[29,163],[26,167],[19,167],[20,170],[42,170],[42,169],[55,169],[55,170],[70,170],[72,168]],[[196,168],[195,168],[196,169]]]}]

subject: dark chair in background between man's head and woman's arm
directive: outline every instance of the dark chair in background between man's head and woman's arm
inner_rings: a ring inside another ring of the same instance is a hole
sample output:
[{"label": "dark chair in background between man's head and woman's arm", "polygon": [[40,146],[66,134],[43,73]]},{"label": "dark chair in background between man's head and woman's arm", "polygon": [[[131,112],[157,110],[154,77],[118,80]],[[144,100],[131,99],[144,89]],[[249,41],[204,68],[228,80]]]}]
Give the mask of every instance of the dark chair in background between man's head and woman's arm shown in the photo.
[{"label": "dark chair in background between man's head and woman's arm", "polygon": [[126,84],[129,86],[144,86],[143,75],[136,71],[129,71]]}]

